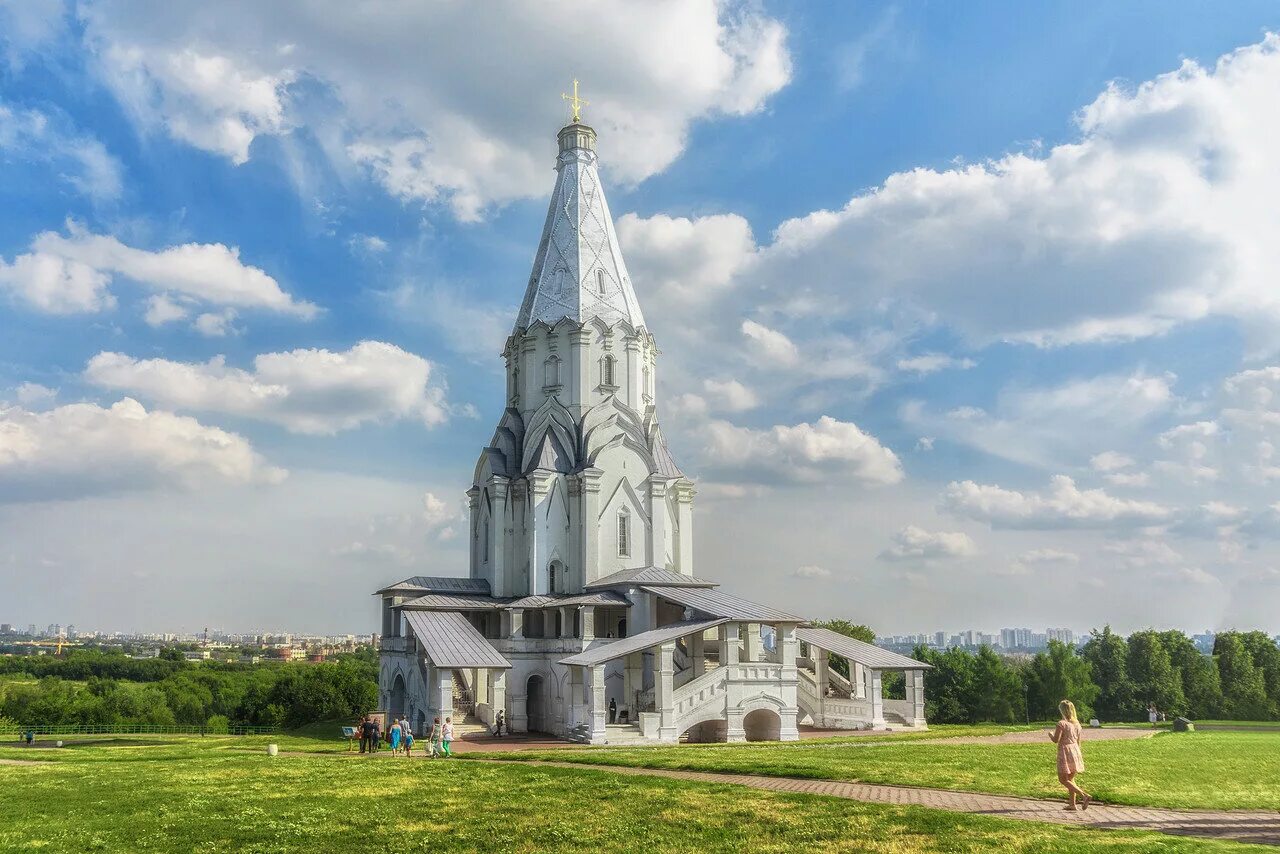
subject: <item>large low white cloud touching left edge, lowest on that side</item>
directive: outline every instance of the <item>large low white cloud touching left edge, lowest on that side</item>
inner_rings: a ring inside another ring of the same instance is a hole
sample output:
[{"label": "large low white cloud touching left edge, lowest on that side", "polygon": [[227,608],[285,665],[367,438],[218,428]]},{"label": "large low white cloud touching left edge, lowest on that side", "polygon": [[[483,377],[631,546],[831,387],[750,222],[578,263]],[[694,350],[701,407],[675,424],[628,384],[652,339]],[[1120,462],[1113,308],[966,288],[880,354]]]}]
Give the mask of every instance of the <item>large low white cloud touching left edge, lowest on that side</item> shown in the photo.
[{"label": "large low white cloud touching left edge, lowest on that side", "polygon": [[132,398],[110,408],[0,410],[0,501],[271,484],[284,476],[242,437],[192,417],[148,412]]}]

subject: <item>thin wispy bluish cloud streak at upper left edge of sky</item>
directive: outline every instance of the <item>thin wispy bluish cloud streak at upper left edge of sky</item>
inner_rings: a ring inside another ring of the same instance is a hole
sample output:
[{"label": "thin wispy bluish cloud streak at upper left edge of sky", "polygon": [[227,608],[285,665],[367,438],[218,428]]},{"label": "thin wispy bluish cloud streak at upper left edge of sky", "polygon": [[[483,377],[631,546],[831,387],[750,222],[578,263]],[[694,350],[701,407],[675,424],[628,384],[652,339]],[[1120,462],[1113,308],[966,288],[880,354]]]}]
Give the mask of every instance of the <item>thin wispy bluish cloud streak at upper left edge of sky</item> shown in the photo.
[{"label": "thin wispy bluish cloud streak at upper left edge of sky", "polygon": [[0,152],[49,164],[59,177],[93,201],[111,201],[123,187],[119,160],[92,137],[59,117],[0,102]]}]

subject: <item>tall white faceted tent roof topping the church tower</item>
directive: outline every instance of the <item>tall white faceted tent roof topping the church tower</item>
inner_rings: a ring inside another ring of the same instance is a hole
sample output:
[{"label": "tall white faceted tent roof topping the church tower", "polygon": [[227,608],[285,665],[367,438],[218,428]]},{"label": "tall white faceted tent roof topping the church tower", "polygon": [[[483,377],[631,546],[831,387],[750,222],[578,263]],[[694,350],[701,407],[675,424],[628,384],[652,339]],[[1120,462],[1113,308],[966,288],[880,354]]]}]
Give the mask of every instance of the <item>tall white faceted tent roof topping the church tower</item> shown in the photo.
[{"label": "tall white faceted tent roof topping the church tower", "polygon": [[644,325],[640,302],[622,260],[609,204],[596,170],[595,131],[573,122],[559,132],[556,188],[534,257],[516,330],[563,318],[599,318],[611,326]]}]

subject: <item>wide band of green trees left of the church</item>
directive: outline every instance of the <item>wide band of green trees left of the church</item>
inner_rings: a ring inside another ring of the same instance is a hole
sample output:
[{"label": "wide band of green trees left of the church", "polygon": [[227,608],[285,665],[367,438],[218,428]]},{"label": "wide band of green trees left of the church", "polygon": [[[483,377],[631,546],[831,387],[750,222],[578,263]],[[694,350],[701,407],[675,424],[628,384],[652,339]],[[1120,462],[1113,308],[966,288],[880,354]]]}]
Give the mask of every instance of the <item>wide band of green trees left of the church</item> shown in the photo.
[{"label": "wide band of green trees left of the church", "polygon": [[[67,658],[0,658],[0,673],[17,676],[0,682],[0,718],[20,725],[293,727],[355,718],[378,704],[371,654],[252,666],[191,663],[180,653],[134,661],[78,650]],[[18,681],[23,676],[36,681]]]}]

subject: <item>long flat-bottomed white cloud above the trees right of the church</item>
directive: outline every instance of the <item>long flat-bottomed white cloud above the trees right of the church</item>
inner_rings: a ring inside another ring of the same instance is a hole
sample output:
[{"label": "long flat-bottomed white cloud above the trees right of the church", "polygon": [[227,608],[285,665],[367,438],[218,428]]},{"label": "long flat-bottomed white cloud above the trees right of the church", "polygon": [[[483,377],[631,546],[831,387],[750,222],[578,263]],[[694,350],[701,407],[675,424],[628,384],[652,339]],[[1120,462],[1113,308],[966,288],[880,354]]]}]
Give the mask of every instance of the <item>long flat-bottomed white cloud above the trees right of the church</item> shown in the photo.
[{"label": "long flat-bottomed white cloud above the trees right of the church", "polygon": [[1047,493],[1021,493],[972,480],[947,485],[941,508],[992,528],[1133,528],[1170,521],[1174,511],[1147,501],[1116,498],[1102,489],[1079,489],[1056,475]]}]

